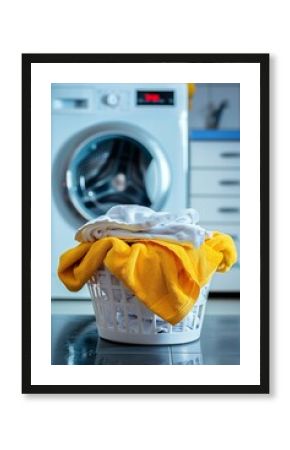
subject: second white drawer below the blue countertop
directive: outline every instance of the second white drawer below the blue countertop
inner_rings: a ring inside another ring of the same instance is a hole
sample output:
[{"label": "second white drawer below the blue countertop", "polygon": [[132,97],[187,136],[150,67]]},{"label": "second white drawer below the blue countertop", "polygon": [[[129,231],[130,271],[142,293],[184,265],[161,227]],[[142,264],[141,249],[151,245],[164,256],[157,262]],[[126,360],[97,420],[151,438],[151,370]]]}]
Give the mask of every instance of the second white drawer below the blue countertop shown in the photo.
[{"label": "second white drawer below the blue countertop", "polygon": [[191,195],[239,195],[240,171],[191,169],[190,193]]}]

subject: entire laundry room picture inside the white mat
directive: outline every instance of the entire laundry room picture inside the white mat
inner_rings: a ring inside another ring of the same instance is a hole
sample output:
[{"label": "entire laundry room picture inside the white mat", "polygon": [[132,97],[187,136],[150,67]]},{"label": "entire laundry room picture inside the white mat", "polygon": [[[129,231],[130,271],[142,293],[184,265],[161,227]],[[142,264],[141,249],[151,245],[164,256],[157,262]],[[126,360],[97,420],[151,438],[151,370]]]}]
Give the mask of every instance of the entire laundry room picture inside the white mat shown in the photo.
[{"label": "entire laundry room picture inside the white mat", "polygon": [[240,364],[240,85],[51,85],[51,364]]}]

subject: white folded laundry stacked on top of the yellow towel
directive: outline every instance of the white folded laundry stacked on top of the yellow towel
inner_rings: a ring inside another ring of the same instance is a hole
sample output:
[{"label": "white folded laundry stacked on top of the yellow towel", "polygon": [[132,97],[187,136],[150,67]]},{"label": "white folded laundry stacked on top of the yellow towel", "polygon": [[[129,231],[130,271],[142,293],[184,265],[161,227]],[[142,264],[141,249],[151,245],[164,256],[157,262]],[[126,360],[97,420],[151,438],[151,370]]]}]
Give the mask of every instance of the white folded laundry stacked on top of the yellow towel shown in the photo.
[{"label": "white folded laundry stacked on top of the yellow towel", "polygon": [[75,239],[79,242],[93,242],[108,236],[124,240],[163,239],[192,242],[199,247],[211,233],[197,225],[198,220],[198,212],[192,208],[174,214],[139,205],[117,205],[106,215],[79,228]]}]

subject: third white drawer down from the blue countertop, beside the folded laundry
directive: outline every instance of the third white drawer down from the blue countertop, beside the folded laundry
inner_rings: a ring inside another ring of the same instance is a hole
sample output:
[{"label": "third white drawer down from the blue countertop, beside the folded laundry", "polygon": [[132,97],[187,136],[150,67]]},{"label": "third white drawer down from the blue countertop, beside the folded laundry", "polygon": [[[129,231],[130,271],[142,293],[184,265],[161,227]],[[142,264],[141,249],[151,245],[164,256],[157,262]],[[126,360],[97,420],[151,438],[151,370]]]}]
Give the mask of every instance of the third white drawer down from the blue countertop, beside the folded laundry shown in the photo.
[{"label": "third white drawer down from the blue countertop, beside the folded laundry", "polygon": [[190,197],[190,207],[199,212],[201,225],[205,222],[239,223],[240,199]]}]

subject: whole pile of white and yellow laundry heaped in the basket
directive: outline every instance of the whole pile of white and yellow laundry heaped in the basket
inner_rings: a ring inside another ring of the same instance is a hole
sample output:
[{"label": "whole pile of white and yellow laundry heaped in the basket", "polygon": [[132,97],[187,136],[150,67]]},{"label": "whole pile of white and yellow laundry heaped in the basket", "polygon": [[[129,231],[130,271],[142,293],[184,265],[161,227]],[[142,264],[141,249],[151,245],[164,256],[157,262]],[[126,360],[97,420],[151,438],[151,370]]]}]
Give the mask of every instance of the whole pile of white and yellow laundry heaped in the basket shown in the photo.
[{"label": "whole pile of white and yellow laundry heaped in the basket", "polygon": [[79,244],[61,255],[58,275],[77,291],[105,267],[151,312],[178,324],[212,275],[227,272],[237,260],[229,235],[198,222],[192,208],[173,214],[114,206],[77,231]]}]

